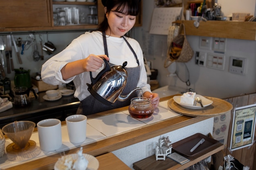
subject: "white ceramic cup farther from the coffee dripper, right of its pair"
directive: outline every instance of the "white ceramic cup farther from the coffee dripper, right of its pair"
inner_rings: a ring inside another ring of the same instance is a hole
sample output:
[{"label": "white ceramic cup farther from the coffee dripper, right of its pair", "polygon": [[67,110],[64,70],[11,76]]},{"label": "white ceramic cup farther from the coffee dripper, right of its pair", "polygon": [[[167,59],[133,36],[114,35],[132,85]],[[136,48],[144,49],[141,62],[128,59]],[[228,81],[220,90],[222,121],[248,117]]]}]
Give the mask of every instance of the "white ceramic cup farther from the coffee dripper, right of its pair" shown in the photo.
[{"label": "white ceramic cup farther from the coffee dripper, right of its pair", "polygon": [[68,137],[71,143],[81,143],[86,139],[87,117],[71,115],[66,118]]}]

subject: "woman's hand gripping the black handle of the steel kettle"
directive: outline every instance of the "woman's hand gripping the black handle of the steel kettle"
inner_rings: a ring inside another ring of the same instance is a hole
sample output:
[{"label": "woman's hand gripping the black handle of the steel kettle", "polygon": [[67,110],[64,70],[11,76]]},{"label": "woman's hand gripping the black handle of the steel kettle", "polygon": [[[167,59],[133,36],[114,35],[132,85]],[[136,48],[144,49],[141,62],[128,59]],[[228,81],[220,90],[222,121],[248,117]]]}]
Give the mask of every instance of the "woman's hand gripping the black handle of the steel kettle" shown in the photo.
[{"label": "woman's hand gripping the black handle of the steel kettle", "polygon": [[94,55],[90,54],[87,58],[83,59],[83,69],[84,71],[97,71],[99,68],[102,67],[102,64],[104,61],[102,58],[109,61],[109,58],[107,55]]}]

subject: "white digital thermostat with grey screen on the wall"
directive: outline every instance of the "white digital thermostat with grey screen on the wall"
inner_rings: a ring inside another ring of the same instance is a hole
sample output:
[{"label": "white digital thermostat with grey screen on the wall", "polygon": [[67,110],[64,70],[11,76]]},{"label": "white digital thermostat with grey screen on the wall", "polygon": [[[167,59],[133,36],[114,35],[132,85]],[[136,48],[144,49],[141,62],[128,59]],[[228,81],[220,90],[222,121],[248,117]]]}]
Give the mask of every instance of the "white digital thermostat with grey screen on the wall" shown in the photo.
[{"label": "white digital thermostat with grey screen on the wall", "polygon": [[230,57],[229,72],[245,75],[246,58],[242,57]]}]

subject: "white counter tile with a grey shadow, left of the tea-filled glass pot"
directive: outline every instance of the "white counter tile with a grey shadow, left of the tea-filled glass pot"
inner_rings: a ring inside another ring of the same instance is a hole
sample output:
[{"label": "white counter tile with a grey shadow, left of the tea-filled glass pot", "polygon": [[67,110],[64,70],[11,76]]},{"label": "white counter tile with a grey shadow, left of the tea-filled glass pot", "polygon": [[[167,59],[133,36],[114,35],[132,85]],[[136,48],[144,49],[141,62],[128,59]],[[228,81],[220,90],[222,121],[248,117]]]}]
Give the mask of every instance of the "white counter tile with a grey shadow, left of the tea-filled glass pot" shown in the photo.
[{"label": "white counter tile with a grey shadow, left of the tea-filled glass pot", "polygon": [[122,112],[89,119],[87,123],[106,136],[115,135],[146,125]]}]

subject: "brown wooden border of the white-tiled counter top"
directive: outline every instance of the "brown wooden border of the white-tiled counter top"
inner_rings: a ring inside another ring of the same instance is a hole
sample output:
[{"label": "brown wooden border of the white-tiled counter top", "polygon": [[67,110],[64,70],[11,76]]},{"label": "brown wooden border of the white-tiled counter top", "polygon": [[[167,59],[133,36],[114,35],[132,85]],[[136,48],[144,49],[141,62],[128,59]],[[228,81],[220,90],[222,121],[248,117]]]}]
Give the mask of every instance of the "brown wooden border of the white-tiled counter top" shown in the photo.
[{"label": "brown wooden border of the white-tiled counter top", "polygon": [[[164,97],[160,101],[168,100],[171,97]],[[88,119],[99,117],[102,115],[108,115],[112,113],[117,113],[123,110],[127,110],[128,107],[118,108],[114,110],[109,110],[102,113],[97,113],[94,115],[89,115]],[[170,119],[166,119],[163,121],[159,121],[157,123],[149,124],[146,126],[142,126],[137,129],[133,129],[127,132],[123,132],[121,134],[113,135],[111,137],[106,137],[100,141],[96,141],[92,144],[87,144],[83,146],[83,153],[93,155],[94,157],[112,152],[114,150],[118,150],[124,148],[126,146],[130,146],[132,144],[136,144],[141,141],[145,141],[147,139],[151,139],[153,137],[157,137],[159,135],[171,132],[173,130],[177,130],[191,124],[195,124],[197,122],[209,119],[209,117],[190,117],[186,115],[180,115],[177,117],[172,117]],[[62,122],[65,124],[65,121]],[[77,152],[77,148],[65,151],[65,155],[74,154]],[[60,154],[51,155],[48,157],[36,159],[27,163],[23,163],[18,166],[13,166],[11,168],[6,168],[4,170],[53,170],[54,164],[60,157]]]}]

